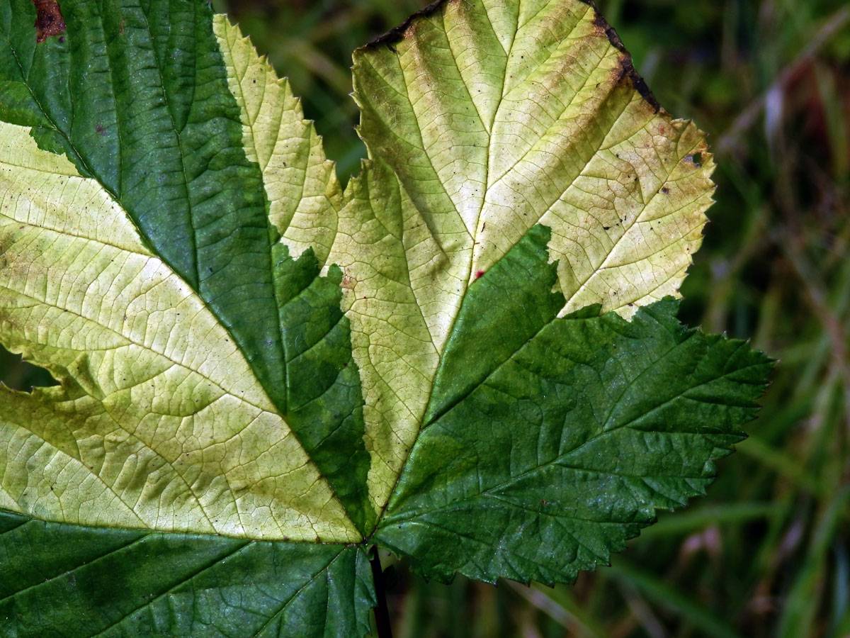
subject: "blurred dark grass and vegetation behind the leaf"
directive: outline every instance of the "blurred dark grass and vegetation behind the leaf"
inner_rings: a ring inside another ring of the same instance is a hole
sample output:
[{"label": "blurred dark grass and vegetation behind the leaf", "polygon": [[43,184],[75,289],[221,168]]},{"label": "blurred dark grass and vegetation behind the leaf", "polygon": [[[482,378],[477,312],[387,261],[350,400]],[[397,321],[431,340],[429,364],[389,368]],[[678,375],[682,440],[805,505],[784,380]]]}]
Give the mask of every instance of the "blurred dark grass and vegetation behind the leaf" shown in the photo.
[{"label": "blurred dark grass and vegetation behind the leaf", "polygon": [[[344,179],[350,54],[414,0],[218,0],[303,97]],[[396,638],[850,636],[850,5],[598,0],[661,104],[706,131],[712,223],[683,320],[779,359],[708,496],[554,589],[412,576],[387,556]],[[29,389],[38,372],[8,367]]]}]

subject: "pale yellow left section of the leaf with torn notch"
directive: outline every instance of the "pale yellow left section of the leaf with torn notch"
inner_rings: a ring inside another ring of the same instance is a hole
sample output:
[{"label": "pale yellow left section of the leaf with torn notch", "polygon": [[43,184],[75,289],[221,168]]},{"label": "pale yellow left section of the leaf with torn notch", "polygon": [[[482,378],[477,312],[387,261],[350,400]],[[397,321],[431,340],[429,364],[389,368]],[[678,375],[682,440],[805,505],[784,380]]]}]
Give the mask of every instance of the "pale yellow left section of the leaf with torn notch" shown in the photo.
[{"label": "pale yellow left section of the leaf with torn notch", "polygon": [[62,386],[0,390],[0,507],[249,538],[359,534],[195,293],[127,214],[0,124],[0,329]]}]

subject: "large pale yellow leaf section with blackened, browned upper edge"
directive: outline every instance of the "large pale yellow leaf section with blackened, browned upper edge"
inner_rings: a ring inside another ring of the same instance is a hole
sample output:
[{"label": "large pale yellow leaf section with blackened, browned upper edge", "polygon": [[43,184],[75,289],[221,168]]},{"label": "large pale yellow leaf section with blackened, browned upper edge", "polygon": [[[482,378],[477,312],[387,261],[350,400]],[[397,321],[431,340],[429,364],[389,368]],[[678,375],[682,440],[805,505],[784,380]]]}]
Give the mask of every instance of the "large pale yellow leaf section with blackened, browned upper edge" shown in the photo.
[{"label": "large pale yellow leaf section with blackened, browned upper edge", "polygon": [[448,0],[355,52],[370,160],[329,260],[353,282],[377,504],[416,439],[467,286],[533,225],[552,229],[562,316],[600,303],[628,317],[678,294],[714,165],[705,135],[637,78],[580,0]]}]

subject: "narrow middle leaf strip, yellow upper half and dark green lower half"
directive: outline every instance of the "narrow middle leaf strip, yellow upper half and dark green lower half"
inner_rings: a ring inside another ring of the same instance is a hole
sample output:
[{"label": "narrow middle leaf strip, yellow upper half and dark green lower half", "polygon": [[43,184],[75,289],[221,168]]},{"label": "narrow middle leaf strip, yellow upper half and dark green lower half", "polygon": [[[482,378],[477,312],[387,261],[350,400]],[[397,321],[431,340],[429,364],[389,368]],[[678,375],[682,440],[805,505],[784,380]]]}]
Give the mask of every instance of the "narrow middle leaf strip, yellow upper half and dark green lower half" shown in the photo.
[{"label": "narrow middle leaf strip, yellow upper half and dark green lower half", "polygon": [[269,201],[275,236],[272,280],[286,374],[286,395],[279,402],[286,405],[286,419],[299,441],[366,534],[377,513],[366,490],[370,459],[363,441],[363,396],[349,321],[340,310],[339,277],[335,271],[320,276],[343,193],[333,162],[326,160],[286,79],[276,77],[224,15],[216,16],[212,26],[240,107],[246,155],[258,162]]}]

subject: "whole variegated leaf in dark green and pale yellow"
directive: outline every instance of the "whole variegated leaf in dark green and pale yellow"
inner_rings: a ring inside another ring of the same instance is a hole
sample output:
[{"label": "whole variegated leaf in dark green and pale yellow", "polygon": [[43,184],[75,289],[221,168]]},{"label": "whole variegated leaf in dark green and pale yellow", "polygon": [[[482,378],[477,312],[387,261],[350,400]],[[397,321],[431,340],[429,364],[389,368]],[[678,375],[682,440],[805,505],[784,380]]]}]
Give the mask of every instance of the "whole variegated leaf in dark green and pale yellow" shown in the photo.
[{"label": "whole variegated leaf in dark green and pale yellow", "polygon": [[364,635],[376,543],[567,582],[740,440],[771,363],[658,301],[704,135],[592,5],[355,52],[345,191],[207,3],[59,9],[0,2],[0,341],[59,380],[0,389],[3,635]]}]

